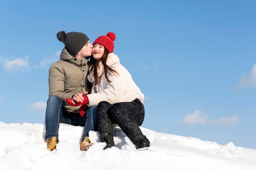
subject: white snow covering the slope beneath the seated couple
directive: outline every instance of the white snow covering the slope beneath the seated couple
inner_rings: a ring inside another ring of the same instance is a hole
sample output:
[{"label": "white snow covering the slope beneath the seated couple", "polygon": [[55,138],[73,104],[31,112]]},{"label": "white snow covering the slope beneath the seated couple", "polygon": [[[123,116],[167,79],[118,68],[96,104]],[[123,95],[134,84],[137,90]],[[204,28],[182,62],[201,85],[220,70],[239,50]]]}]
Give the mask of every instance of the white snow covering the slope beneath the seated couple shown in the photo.
[{"label": "white snow covering the slope beneath the seated couple", "polygon": [[225,146],[158,133],[144,127],[150,147],[136,150],[134,144],[114,126],[116,148],[103,150],[99,133],[90,131],[94,145],[80,151],[83,127],[60,124],[56,150],[46,149],[45,124],[0,122],[0,170],[255,170],[256,150]]}]

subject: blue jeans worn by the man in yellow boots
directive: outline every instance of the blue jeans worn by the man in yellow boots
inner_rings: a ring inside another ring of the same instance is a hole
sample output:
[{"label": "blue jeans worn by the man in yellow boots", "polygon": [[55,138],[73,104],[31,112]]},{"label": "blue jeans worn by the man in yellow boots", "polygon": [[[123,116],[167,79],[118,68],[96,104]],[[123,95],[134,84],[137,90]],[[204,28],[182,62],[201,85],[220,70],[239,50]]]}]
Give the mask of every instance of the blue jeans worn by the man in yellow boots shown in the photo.
[{"label": "blue jeans worn by the man in yellow boots", "polygon": [[45,113],[45,139],[57,137],[59,124],[71,124],[74,126],[85,126],[82,139],[89,136],[89,131],[97,131],[97,105],[89,107],[85,115],[81,117],[79,113],[70,113],[64,107],[61,98],[52,95],[47,100]]}]

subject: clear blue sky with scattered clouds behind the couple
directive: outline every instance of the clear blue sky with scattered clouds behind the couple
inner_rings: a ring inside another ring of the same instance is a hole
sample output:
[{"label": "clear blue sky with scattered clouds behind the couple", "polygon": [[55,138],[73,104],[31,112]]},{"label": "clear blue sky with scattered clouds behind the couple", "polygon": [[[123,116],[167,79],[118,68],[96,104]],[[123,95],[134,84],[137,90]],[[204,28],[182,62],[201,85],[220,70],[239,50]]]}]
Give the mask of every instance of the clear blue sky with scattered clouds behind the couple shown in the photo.
[{"label": "clear blue sky with scattered clouds behind the couple", "polygon": [[5,1],[0,6],[0,122],[43,123],[58,31],[114,52],[145,95],[143,127],[256,149],[254,0]]}]

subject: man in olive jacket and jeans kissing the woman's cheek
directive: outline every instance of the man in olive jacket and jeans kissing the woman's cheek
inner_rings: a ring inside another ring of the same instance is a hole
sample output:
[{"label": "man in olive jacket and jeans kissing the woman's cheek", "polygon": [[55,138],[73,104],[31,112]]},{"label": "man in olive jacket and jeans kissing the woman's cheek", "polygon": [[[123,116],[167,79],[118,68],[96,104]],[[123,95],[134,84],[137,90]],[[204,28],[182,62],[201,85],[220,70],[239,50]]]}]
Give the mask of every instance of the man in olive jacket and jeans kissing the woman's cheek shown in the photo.
[{"label": "man in olive jacket and jeans kissing the woman's cheek", "polygon": [[92,44],[87,35],[78,32],[66,34],[60,31],[57,38],[65,47],[60,60],[49,68],[49,99],[45,113],[47,149],[56,149],[59,124],[66,123],[85,126],[80,149],[87,150],[93,144],[89,140],[89,131],[97,128],[97,107],[88,108],[81,117],[79,106],[68,105],[66,98],[83,102],[83,95],[87,94],[88,59],[92,55]]}]

